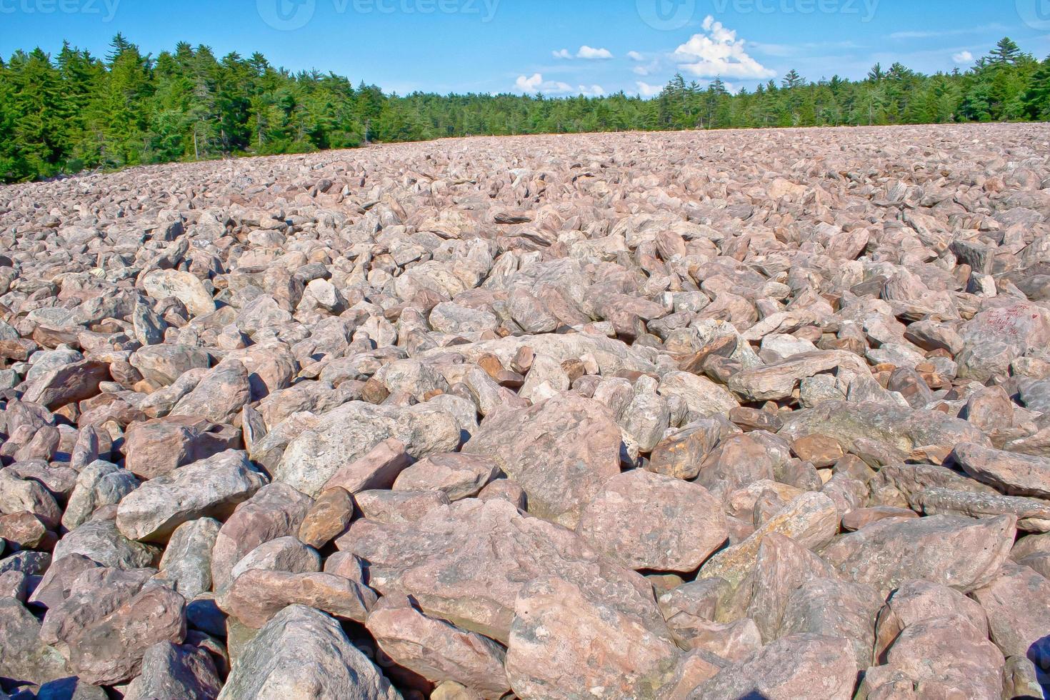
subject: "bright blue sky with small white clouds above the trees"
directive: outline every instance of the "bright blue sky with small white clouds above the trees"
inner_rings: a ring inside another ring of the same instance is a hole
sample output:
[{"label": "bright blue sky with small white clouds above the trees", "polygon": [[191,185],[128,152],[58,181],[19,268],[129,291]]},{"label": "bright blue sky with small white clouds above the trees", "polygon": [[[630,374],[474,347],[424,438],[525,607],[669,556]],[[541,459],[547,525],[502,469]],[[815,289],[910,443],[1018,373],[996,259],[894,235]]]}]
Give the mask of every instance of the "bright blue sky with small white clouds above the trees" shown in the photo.
[{"label": "bright blue sky with small white clouds above the trees", "polygon": [[102,56],[117,31],[400,93],[646,94],[676,71],[750,89],[791,68],[966,68],[1003,36],[1044,58],[1050,0],[0,0],[3,56],[63,39]]}]

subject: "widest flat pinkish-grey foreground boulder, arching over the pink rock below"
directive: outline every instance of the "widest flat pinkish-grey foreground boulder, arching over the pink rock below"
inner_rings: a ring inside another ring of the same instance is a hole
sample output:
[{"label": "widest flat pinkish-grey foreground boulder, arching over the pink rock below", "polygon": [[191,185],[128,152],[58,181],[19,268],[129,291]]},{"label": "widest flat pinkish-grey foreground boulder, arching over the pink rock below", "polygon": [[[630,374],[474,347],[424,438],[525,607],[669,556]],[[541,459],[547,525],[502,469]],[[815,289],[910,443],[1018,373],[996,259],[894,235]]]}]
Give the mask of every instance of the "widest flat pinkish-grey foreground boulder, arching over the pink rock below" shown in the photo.
[{"label": "widest flat pinkish-grey foreground boulder, arching over the pink rock below", "polygon": [[645,578],[506,501],[459,501],[403,525],[357,521],[336,545],[365,563],[369,585],[382,595],[407,595],[426,615],[503,642],[519,593],[541,576],[593,591],[650,627],[663,624]]}]

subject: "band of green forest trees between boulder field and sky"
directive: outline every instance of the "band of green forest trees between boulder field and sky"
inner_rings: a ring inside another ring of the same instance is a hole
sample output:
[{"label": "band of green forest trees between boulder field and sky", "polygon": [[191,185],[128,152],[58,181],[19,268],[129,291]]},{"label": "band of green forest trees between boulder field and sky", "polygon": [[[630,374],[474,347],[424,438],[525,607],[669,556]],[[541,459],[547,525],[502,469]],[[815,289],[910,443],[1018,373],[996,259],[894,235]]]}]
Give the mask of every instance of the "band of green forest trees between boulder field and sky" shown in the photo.
[{"label": "band of green forest trees between boulder field and sky", "polygon": [[675,76],[653,99],[385,94],[335,73],[292,72],[261,54],[219,59],[180,43],[156,58],[118,35],[104,58],[71,47],[0,58],[0,181],[82,170],[301,153],[441,136],[772,126],[1050,121],[1050,57],[1003,39],[969,69],[900,63],[863,80],[778,84],[732,94]]}]

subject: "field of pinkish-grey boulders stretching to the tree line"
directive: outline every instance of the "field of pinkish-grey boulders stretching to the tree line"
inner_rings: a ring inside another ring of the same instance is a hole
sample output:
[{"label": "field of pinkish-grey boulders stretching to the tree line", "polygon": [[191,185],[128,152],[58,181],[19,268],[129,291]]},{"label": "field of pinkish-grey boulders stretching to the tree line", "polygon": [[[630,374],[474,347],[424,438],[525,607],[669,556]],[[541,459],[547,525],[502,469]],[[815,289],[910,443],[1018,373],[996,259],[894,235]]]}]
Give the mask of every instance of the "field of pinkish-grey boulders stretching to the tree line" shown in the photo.
[{"label": "field of pinkish-grey boulders stretching to the tree line", "polygon": [[1044,697],[1048,142],[0,188],[0,698]]}]

